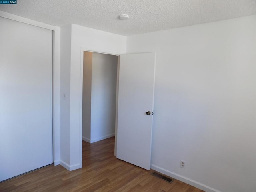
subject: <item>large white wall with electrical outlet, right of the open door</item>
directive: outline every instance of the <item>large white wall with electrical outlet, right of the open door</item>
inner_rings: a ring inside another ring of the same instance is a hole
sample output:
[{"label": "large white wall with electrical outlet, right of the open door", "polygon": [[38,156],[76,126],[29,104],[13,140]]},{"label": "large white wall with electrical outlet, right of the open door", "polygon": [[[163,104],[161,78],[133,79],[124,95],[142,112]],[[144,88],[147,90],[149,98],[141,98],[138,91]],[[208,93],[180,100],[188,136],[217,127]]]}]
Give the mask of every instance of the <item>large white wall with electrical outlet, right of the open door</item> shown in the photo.
[{"label": "large white wall with electrical outlet, right of the open door", "polygon": [[127,52],[157,54],[152,168],[255,192],[256,16],[130,36]]}]

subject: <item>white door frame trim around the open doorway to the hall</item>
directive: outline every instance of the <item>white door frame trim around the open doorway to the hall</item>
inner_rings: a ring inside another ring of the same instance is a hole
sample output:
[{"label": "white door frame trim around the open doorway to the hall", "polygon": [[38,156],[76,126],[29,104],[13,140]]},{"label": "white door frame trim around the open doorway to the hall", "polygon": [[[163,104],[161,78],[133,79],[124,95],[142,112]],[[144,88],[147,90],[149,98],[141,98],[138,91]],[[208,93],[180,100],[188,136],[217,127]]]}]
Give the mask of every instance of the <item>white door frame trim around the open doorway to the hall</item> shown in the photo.
[{"label": "white door frame trim around the open doorway to the hall", "polygon": [[116,133],[117,133],[117,111],[118,111],[118,84],[119,84],[119,56],[124,53],[112,51],[112,50],[104,50],[90,47],[81,47],[81,56],[80,56],[80,101],[79,101],[79,134],[80,134],[80,164],[82,165],[82,106],[83,106],[83,70],[84,70],[84,51],[95,52],[95,53],[103,53],[109,55],[118,56],[117,62],[117,78],[116,78],[116,123],[115,123],[115,152],[116,156]]}]

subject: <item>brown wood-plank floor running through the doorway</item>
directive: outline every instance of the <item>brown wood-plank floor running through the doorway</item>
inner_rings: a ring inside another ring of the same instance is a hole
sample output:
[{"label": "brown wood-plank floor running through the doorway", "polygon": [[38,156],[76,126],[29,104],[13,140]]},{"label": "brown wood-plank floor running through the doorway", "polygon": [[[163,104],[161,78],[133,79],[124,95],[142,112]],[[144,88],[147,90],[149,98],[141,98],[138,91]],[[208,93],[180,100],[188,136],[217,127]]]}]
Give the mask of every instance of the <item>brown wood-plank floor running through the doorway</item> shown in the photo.
[{"label": "brown wood-plank floor running through the doorway", "polygon": [[1,192],[203,192],[174,180],[168,183],[114,156],[114,137],[83,141],[83,168],[69,172],[48,166],[0,183]]}]

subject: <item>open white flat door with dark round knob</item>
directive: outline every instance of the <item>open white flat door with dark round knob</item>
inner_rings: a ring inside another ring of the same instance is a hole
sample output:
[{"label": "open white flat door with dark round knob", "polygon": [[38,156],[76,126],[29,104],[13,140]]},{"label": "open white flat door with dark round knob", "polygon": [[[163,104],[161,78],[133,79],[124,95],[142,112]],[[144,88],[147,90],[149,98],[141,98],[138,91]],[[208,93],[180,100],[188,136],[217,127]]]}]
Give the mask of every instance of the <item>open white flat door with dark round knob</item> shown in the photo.
[{"label": "open white flat door with dark round knob", "polygon": [[[155,53],[120,55],[116,157],[150,170]],[[150,114],[146,114],[150,112]]]}]

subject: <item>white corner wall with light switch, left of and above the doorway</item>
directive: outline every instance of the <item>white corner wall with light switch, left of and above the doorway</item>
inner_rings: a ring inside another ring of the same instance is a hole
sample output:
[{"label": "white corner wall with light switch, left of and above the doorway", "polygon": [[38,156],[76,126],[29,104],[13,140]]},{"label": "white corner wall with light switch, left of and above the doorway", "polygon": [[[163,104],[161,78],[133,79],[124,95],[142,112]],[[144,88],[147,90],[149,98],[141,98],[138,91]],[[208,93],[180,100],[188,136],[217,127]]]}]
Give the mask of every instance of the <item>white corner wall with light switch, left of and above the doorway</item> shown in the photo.
[{"label": "white corner wall with light switch, left of and above the doorway", "polygon": [[123,54],[126,36],[75,24],[61,28],[60,163],[68,170],[82,167],[83,50]]}]

